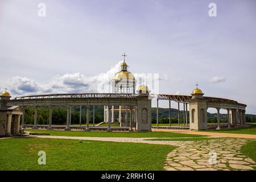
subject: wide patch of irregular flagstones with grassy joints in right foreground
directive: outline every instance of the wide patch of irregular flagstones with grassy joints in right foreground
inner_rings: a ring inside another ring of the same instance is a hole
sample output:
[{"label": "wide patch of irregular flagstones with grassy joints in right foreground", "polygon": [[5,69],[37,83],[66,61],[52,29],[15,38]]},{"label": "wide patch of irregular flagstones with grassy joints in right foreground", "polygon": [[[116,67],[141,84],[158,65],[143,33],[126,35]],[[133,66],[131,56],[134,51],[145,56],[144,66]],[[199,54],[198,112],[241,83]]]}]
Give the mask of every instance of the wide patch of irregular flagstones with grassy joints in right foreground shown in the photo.
[{"label": "wide patch of irregular flagstones with grassy joints in right foreground", "polygon": [[241,153],[248,139],[218,138],[191,141],[167,155],[167,171],[254,170],[256,163]]}]

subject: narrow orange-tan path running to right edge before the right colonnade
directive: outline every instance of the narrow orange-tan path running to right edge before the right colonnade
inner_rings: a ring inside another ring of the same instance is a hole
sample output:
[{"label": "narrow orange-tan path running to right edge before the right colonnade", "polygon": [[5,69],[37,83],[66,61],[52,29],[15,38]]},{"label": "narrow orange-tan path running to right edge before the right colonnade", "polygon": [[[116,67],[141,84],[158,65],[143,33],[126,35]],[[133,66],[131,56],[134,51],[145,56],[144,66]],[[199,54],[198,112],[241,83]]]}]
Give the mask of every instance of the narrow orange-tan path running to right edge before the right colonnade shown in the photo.
[{"label": "narrow orange-tan path running to right edge before the right colonnade", "polygon": [[195,135],[208,135],[213,137],[231,137],[231,138],[250,138],[256,139],[256,135],[250,134],[233,134],[233,133],[214,133],[207,131],[191,131],[191,130],[168,130],[168,129],[152,129],[152,131],[164,131],[172,133],[195,134]]}]

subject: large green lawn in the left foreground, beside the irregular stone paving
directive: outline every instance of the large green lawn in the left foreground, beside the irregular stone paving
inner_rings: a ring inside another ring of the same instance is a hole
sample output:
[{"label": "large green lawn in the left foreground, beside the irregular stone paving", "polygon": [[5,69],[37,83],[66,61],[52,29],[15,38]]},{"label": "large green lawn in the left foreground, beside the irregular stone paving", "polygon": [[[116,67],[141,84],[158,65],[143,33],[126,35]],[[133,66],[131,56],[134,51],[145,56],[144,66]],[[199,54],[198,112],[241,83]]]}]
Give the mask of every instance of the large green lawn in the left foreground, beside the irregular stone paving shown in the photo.
[{"label": "large green lawn in the left foreground, beside the irregular stone paving", "polygon": [[[0,140],[0,170],[163,170],[174,146],[90,140]],[[46,152],[46,165],[38,152]],[[156,155],[157,154],[157,155]]]}]

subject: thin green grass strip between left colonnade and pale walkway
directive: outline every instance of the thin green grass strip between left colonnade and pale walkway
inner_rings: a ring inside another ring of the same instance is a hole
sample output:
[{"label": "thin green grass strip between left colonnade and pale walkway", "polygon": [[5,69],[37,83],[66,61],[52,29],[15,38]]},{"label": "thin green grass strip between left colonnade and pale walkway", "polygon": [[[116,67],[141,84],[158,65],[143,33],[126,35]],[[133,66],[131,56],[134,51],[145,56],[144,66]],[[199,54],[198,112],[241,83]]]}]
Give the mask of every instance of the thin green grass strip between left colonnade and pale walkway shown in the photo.
[{"label": "thin green grass strip between left colonnade and pale walkway", "polygon": [[190,135],[171,132],[105,132],[105,131],[51,131],[51,130],[25,130],[39,133],[49,133],[54,136],[71,137],[131,137],[131,138],[172,138],[172,137],[205,137],[204,135]]}]

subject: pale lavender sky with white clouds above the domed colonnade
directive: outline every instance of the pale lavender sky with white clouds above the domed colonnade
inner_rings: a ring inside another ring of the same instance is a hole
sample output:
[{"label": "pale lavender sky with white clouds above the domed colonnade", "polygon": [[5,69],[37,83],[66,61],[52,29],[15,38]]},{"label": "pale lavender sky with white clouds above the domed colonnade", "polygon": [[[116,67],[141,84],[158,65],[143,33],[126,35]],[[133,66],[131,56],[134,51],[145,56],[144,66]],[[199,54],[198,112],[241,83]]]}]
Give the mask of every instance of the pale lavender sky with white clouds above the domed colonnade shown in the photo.
[{"label": "pale lavender sky with white clouds above the domed colonnade", "polygon": [[159,93],[190,94],[198,82],[256,114],[255,18],[254,0],[0,0],[0,89],[105,92],[125,52],[135,76],[159,74]]}]

